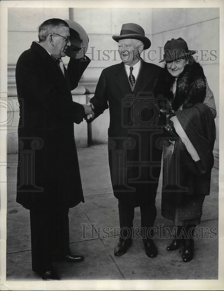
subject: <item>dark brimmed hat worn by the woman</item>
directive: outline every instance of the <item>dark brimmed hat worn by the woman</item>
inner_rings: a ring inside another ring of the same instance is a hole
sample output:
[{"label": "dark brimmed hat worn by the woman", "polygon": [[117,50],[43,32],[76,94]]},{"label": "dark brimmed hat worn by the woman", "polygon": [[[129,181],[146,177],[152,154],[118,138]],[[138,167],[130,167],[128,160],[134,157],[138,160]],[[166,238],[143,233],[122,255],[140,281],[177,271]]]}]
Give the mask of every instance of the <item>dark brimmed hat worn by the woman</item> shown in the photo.
[{"label": "dark brimmed hat worn by the woman", "polygon": [[195,53],[195,51],[189,51],[187,43],[183,38],[172,38],[171,40],[168,40],[164,45],[163,59],[162,61],[159,61],[159,63],[165,61],[174,61],[185,56],[191,56]]}]

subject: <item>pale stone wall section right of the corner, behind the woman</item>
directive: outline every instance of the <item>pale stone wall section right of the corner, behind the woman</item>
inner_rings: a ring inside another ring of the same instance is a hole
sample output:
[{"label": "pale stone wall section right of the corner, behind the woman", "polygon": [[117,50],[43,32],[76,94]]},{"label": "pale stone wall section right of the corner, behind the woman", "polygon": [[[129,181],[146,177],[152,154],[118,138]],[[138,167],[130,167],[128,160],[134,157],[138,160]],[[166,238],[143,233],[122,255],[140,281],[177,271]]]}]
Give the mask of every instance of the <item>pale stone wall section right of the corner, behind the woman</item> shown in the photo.
[{"label": "pale stone wall section right of the corner, behind the woman", "polygon": [[[182,37],[204,70],[209,87],[214,94],[217,117],[215,166],[219,161],[219,8],[169,8],[153,9],[152,47],[164,46],[171,38]],[[202,52],[203,50],[203,52]],[[210,54],[214,54],[216,57]],[[155,61],[158,64],[158,60]]]}]

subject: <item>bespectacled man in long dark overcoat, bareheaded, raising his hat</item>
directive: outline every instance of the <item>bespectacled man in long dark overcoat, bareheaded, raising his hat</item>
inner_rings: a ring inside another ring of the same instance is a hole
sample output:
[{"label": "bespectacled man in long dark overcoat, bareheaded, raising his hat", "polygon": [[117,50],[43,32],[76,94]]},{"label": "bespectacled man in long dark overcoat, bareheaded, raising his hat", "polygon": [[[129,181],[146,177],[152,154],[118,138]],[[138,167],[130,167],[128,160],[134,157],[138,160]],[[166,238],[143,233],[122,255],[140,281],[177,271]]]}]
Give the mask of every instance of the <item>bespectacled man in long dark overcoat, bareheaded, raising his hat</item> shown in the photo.
[{"label": "bespectacled man in long dark overcoat, bareheaded, raising his hat", "polygon": [[58,279],[52,262],[80,262],[69,248],[69,208],[84,202],[74,140],[74,123],[86,117],[71,90],[90,59],[61,60],[70,43],[67,22],[49,19],[39,27],[39,42],[16,65],[20,103],[16,201],[30,210],[32,270]]}]

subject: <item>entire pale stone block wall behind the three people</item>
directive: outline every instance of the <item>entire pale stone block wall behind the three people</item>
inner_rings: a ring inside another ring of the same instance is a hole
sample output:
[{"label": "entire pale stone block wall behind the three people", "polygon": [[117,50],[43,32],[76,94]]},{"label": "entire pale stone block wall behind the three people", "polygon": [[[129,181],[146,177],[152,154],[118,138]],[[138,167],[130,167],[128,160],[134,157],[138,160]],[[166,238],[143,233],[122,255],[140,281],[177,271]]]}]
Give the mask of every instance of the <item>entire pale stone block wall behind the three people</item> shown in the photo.
[{"label": "entire pale stone block wall behind the three people", "polygon": [[[8,153],[16,149],[10,146],[10,139],[17,135],[18,106],[16,104],[15,65],[20,54],[28,49],[33,40],[38,40],[38,25],[49,18],[71,19],[86,30],[89,37],[87,56],[91,63],[85,70],[73,100],[85,103],[93,96],[102,70],[120,62],[117,42],[112,35],[119,35],[123,23],[141,25],[150,38],[151,47],[142,54],[145,61],[159,63],[162,47],[171,38],[182,37],[189,49],[198,50],[208,84],[214,93],[217,117],[217,138],[214,148],[218,167],[219,129],[219,8],[8,8],[8,96],[14,107],[8,109],[8,116],[14,113],[13,126],[8,127]],[[28,25],[29,24],[29,25]],[[154,50],[154,51],[153,51]],[[205,50],[203,60],[200,50]],[[208,53],[206,53],[206,50]],[[209,60],[209,52],[216,55]],[[69,58],[63,58],[65,66]],[[77,147],[89,143],[102,143],[107,138],[109,110],[87,125],[86,121],[74,126]]]}]

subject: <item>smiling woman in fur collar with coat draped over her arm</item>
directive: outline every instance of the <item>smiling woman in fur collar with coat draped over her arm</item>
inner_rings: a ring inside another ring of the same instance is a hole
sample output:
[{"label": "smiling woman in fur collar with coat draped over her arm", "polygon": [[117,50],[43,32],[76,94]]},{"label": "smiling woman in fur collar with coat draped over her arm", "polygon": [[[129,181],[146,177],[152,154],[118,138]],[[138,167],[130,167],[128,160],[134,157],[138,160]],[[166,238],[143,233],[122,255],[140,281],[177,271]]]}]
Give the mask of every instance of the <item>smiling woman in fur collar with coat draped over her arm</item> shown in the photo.
[{"label": "smiling woman in fur collar with coat draped over her arm", "polygon": [[206,78],[192,58],[194,53],[182,38],[166,42],[166,65],[156,85],[168,100],[166,109],[160,110],[166,124],[161,214],[177,226],[166,249],[178,249],[183,239],[184,262],[193,258],[193,234],[210,192],[216,138],[214,116],[204,102]]}]

